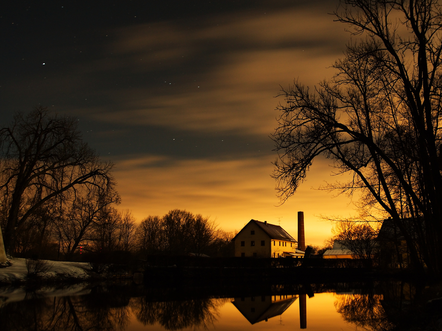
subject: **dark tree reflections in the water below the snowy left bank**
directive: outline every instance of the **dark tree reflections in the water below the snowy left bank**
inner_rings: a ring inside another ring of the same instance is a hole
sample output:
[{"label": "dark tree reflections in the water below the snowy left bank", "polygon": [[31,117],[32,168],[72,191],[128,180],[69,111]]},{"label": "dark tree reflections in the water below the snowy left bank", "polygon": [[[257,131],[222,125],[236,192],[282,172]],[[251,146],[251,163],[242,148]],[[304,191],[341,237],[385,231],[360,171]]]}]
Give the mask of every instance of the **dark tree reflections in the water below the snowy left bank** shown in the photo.
[{"label": "dark tree reflections in the water below the snowy left bank", "polygon": [[0,308],[2,331],[122,331],[129,324],[127,306],[90,305],[84,297],[31,299]]}]

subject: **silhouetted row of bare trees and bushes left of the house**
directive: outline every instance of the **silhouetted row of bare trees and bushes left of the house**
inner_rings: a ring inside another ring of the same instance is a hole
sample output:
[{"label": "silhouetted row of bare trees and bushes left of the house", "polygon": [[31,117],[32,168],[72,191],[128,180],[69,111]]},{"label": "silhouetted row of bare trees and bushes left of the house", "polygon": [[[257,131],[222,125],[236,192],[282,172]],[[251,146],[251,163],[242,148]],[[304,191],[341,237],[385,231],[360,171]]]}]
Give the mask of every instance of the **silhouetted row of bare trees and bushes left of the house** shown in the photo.
[{"label": "silhouetted row of bare trees and bushes left of the house", "polygon": [[82,140],[75,118],[42,107],[18,113],[0,130],[0,153],[0,226],[11,256],[233,255],[234,234],[202,215],[176,209],[137,224],[119,211],[114,164]]}]

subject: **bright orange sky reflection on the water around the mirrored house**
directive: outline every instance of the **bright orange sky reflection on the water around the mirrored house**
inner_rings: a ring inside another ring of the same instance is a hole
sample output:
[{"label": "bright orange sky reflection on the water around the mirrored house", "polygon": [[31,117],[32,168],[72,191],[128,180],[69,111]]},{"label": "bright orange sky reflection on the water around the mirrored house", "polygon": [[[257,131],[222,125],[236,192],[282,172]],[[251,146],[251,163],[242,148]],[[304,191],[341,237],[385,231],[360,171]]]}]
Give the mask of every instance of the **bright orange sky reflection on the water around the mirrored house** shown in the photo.
[{"label": "bright orange sky reflection on the water around the mirrored house", "polygon": [[[312,298],[307,298],[307,329],[312,331],[323,330],[354,330],[354,326],[347,324],[336,312],[335,301],[337,295],[334,293],[319,293]],[[220,331],[244,331],[244,330],[300,330],[299,324],[299,303],[294,301],[292,305],[281,315],[251,325],[248,320],[227,301],[218,310],[217,322],[214,324],[215,330]],[[213,329],[213,326],[208,326]],[[164,330],[158,323],[144,326],[137,321],[135,316],[131,316],[131,324],[125,331],[138,330]],[[183,329],[193,330],[193,328]]]}]

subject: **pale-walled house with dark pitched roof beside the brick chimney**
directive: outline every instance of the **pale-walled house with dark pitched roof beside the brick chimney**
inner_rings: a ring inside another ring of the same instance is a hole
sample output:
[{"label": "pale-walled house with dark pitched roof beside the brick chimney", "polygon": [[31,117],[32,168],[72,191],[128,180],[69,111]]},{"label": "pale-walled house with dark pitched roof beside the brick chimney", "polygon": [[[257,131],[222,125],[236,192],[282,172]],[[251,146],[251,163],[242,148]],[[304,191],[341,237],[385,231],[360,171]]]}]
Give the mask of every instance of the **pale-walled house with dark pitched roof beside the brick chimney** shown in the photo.
[{"label": "pale-walled house with dark pitched roof beside the brick chimney", "polygon": [[232,239],[236,257],[303,257],[297,241],[279,225],[251,219]]}]

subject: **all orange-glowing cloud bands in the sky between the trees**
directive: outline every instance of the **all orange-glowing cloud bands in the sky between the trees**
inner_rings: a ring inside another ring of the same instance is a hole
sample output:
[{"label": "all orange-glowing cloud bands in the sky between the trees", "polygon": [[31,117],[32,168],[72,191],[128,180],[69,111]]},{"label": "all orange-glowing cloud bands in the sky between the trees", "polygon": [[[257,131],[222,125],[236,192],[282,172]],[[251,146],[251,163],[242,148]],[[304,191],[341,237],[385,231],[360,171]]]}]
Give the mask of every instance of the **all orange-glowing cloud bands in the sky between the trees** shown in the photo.
[{"label": "all orange-glowing cloud bands in the sky between the trees", "polygon": [[[134,62],[140,61],[140,53],[144,53],[142,58],[146,61],[153,61],[153,55],[143,45],[163,49],[155,53],[155,59],[164,61],[190,56],[192,42],[222,41],[224,37],[236,35],[237,42],[253,45],[262,41],[273,46],[268,50],[251,46],[224,54],[223,60],[201,78],[198,89],[185,89],[167,97],[148,93],[145,99],[140,97],[145,91],[125,91],[122,97],[127,99],[128,110],[108,113],[104,120],[167,124],[201,133],[216,131],[220,140],[223,132],[250,135],[251,139],[266,138],[277,125],[274,108],[283,101],[274,98],[279,84],[286,87],[297,77],[313,87],[332,76],[333,70],[327,67],[342,56],[349,37],[344,32],[345,26],[332,22],[333,17],[327,15],[334,8],[335,4],[330,4],[329,8],[310,8],[309,11],[298,8],[261,18],[245,15],[240,22],[229,18],[220,26],[191,33],[183,33],[168,22],[121,30],[120,47],[113,50],[127,54],[137,52]],[[284,47],[277,46],[278,43]],[[102,114],[96,116],[99,118]],[[174,137],[164,137],[169,138]],[[332,199],[331,193],[311,190],[324,185],[324,180],[333,181],[329,176],[331,168],[320,160],[313,163],[308,181],[297,194],[285,205],[275,207],[278,199],[270,175],[271,161],[276,155],[269,150],[249,151],[246,147],[245,152],[251,154],[232,160],[172,160],[146,155],[114,160],[121,208],[132,209],[138,221],[148,215],[162,216],[174,208],[186,209],[211,216],[226,231],[240,230],[250,219],[278,224],[278,217],[282,216],[281,226],[295,238],[297,212],[304,211],[305,240],[314,245],[322,245],[324,239],[331,236],[331,224],[315,216],[354,214],[347,197]]]}]

